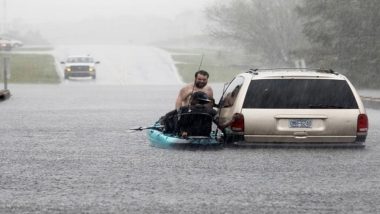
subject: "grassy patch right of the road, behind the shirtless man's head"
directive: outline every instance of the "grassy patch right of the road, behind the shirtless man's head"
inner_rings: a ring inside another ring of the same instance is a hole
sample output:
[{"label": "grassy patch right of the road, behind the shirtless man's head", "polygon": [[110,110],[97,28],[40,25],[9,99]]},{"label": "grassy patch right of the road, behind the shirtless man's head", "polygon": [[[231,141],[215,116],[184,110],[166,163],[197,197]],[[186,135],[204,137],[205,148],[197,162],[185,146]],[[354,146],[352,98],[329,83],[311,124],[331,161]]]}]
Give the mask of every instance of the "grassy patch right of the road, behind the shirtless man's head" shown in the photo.
[{"label": "grassy patch right of the road, behind the shirtless man's head", "polygon": [[227,82],[236,74],[246,71],[248,60],[241,55],[207,49],[166,49],[171,53],[179,75],[184,82],[194,80],[194,73],[199,69],[202,55],[202,70],[210,74],[210,82]]}]

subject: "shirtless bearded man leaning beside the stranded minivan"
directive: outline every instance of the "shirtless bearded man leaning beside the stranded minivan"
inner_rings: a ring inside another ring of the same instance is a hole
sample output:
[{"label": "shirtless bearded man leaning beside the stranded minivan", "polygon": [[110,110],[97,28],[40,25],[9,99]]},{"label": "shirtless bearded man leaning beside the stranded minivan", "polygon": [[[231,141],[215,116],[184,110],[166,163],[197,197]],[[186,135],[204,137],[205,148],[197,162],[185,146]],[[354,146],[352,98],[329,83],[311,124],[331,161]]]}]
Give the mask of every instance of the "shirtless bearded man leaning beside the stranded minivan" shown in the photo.
[{"label": "shirtless bearded man leaning beside the stranded minivan", "polygon": [[189,105],[191,95],[197,91],[203,91],[207,94],[210,100],[213,99],[213,91],[210,86],[207,85],[209,74],[207,71],[199,70],[195,73],[195,80],[179,91],[177,100],[175,102],[175,108],[179,109],[181,106]]}]

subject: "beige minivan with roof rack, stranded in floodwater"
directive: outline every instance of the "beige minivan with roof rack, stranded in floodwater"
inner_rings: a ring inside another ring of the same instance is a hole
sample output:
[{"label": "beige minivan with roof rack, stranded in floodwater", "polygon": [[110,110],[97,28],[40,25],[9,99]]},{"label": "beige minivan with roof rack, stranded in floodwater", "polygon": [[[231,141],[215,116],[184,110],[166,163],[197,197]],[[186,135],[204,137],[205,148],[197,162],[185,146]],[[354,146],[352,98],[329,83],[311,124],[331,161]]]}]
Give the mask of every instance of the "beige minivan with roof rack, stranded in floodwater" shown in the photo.
[{"label": "beige minivan with roof rack, stranded in floodwater", "polygon": [[354,86],[322,69],[255,69],[237,75],[220,100],[228,143],[363,147],[368,118]]}]

